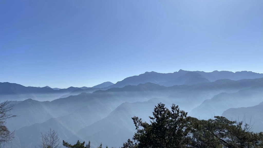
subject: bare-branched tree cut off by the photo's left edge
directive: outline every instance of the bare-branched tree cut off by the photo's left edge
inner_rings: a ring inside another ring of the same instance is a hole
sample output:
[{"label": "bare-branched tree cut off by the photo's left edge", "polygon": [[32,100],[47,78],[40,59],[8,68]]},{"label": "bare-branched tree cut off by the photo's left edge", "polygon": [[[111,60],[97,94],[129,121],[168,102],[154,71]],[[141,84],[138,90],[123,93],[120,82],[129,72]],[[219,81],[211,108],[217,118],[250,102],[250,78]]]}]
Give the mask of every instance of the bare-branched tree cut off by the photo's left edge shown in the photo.
[{"label": "bare-branched tree cut off by the photo's left edge", "polygon": [[16,115],[10,114],[14,105],[10,105],[9,103],[10,101],[0,103],[0,147],[14,138],[14,131],[9,131],[5,126],[7,119],[16,117]]}]

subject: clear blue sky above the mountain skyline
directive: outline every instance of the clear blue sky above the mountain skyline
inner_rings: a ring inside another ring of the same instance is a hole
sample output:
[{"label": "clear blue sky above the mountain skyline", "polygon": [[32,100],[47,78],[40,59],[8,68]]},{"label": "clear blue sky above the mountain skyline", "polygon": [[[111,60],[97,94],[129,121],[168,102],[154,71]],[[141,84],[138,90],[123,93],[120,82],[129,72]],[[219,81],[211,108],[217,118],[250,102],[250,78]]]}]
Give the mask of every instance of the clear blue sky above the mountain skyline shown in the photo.
[{"label": "clear blue sky above the mountain skyline", "polygon": [[67,88],[145,71],[263,73],[262,0],[2,0],[0,28],[0,82]]}]

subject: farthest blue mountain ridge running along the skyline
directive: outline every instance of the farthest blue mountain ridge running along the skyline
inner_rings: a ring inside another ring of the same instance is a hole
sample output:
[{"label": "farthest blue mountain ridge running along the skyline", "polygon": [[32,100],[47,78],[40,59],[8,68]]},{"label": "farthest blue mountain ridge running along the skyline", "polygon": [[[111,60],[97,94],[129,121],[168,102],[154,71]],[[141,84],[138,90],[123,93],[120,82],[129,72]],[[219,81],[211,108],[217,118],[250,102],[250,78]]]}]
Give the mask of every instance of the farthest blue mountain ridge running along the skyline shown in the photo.
[{"label": "farthest blue mountain ridge running along the skyline", "polygon": [[56,98],[78,95],[82,92],[92,93],[97,90],[107,90],[114,87],[124,87],[127,85],[139,85],[144,83],[155,83],[164,86],[174,85],[195,85],[199,83],[214,82],[220,79],[241,80],[262,78],[263,74],[251,71],[230,72],[230,71],[184,71],[179,70],[174,73],[145,72],[138,76],[127,77],[122,81],[113,84],[104,82],[102,84],[89,87],[69,87],[65,89],[46,87],[25,87],[16,83],[0,83],[0,97],[2,100],[26,100],[28,98],[42,100],[54,100]]}]

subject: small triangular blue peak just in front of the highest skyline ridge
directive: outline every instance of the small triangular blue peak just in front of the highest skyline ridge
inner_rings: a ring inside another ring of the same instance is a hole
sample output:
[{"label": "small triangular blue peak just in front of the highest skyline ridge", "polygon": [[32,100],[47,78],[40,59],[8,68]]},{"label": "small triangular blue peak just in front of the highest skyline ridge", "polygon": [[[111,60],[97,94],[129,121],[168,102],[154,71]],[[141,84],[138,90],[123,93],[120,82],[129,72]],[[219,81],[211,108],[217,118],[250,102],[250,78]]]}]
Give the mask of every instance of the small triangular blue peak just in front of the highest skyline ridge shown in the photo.
[{"label": "small triangular blue peak just in front of the highest skyline ridge", "polygon": [[160,82],[159,85],[174,86],[174,85],[194,85],[198,83],[210,82],[197,72],[187,72],[185,75],[176,78],[175,80],[168,82]]}]

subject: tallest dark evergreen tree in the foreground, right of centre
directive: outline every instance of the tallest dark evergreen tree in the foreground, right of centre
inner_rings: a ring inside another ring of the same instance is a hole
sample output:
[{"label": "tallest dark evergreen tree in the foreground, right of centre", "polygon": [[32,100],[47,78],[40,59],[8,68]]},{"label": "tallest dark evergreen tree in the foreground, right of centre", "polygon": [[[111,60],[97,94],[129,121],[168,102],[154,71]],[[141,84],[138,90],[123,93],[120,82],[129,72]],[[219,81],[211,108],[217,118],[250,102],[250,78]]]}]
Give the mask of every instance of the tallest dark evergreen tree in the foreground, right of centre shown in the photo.
[{"label": "tallest dark evergreen tree in the foreground, right of centre", "polygon": [[188,134],[187,113],[174,104],[171,111],[164,104],[155,106],[153,117],[150,117],[150,124],[142,122],[138,117],[133,117],[137,132],[133,136],[133,143],[130,139],[123,144],[124,148],[133,147],[155,147],[155,148],[179,148],[186,143]]}]

